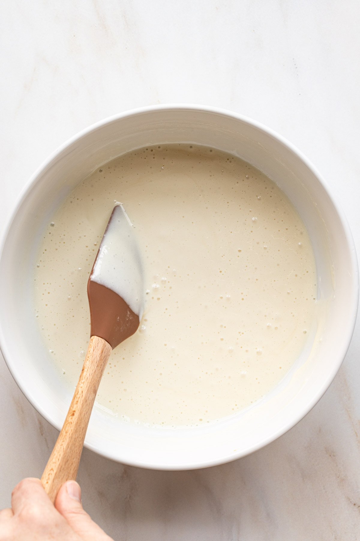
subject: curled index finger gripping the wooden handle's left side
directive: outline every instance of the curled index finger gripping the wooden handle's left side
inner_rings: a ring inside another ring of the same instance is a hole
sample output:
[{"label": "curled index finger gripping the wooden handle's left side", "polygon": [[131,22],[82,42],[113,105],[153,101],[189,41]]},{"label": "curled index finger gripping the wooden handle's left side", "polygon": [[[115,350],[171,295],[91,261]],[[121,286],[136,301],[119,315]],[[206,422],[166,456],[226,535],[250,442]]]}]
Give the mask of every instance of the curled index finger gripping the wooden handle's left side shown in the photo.
[{"label": "curled index finger gripping the wooden handle's left side", "polygon": [[14,514],[21,513],[24,507],[36,504],[45,512],[53,512],[54,507],[47,496],[40,479],[29,477],[20,481],[11,494],[11,507]]}]

